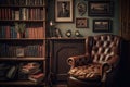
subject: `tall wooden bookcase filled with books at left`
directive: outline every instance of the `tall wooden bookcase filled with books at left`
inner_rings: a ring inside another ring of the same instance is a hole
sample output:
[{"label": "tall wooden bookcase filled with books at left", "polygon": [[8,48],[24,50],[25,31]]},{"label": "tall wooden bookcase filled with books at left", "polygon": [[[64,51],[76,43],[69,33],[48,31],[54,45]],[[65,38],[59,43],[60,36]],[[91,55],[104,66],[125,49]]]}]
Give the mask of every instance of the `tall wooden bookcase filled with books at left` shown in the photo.
[{"label": "tall wooden bookcase filled with books at left", "polygon": [[46,14],[46,0],[0,1],[0,86],[47,84]]}]

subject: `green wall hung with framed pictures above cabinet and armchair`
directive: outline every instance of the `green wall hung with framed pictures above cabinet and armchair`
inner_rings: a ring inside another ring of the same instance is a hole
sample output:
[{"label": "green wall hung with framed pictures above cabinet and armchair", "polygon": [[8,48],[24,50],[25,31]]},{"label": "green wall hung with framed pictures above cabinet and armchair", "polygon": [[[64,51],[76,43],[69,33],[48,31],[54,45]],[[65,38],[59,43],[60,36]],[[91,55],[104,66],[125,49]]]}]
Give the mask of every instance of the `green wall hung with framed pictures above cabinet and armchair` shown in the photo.
[{"label": "green wall hung with framed pictures above cabinet and armchair", "polygon": [[[62,2],[67,3],[68,17],[58,16]],[[55,23],[63,37],[67,37],[67,30],[73,32],[72,37],[75,37],[75,30],[84,37],[102,33],[119,34],[119,26],[116,26],[119,24],[117,0],[52,0],[50,4],[50,10],[54,11],[49,12],[49,20]]]}]

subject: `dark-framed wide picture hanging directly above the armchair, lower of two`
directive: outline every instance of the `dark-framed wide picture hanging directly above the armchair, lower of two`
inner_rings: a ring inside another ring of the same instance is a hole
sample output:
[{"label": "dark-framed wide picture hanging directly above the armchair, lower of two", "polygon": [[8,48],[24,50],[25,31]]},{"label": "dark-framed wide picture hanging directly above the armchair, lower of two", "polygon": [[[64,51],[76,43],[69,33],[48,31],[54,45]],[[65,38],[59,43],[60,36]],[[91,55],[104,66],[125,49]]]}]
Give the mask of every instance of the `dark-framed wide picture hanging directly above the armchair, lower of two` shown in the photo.
[{"label": "dark-framed wide picture hanging directly above the armchair, lower of two", "polygon": [[94,33],[110,33],[112,32],[112,20],[93,20],[93,32]]}]

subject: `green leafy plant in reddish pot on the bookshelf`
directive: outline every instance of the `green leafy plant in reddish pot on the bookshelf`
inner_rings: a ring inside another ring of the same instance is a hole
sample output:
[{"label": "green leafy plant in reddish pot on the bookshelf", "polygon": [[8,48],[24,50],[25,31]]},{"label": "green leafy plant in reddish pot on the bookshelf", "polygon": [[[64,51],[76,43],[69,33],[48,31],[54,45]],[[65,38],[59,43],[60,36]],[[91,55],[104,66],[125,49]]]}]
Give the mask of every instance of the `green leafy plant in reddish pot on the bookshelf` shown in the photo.
[{"label": "green leafy plant in reddish pot on the bookshelf", "polygon": [[25,23],[15,23],[15,30],[20,34],[20,37],[25,37],[25,29],[26,24]]}]

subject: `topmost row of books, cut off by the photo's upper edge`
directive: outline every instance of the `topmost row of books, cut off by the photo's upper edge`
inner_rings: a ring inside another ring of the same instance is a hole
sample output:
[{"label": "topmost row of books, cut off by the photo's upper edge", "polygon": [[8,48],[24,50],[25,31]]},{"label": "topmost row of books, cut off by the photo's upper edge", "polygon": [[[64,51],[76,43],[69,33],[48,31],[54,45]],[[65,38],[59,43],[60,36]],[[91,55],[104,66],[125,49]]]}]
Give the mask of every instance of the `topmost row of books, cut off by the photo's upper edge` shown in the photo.
[{"label": "topmost row of books, cut off by the photo's upper edge", "polygon": [[0,4],[9,5],[42,5],[46,0],[1,0]]}]

